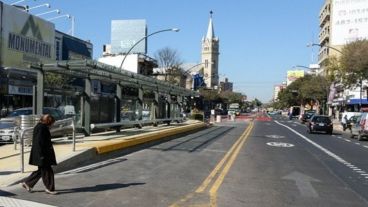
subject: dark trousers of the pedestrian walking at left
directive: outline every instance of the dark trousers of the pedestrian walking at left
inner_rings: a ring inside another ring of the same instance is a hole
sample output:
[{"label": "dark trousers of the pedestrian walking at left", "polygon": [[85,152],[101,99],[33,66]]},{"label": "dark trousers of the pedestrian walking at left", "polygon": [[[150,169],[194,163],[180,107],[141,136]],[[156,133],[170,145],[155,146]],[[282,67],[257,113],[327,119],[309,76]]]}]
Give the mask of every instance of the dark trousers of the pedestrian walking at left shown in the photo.
[{"label": "dark trousers of the pedestrian walking at left", "polygon": [[54,171],[51,166],[38,166],[38,170],[34,171],[25,179],[25,183],[33,188],[36,185],[38,180],[42,177],[43,184],[45,187],[50,190],[55,190],[55,180],[54,180]]}]

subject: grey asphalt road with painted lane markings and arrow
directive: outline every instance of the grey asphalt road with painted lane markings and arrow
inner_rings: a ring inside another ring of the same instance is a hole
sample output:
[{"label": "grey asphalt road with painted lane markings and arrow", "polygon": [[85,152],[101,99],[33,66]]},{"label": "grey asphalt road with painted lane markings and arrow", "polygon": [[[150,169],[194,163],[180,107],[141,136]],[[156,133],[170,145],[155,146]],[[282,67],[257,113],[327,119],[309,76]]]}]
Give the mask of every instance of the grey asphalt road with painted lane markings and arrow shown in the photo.
[{"label": "grey asphalt road with painted lane markings and arrow", "polygon": [[0,195],[54,206],[368,206],[367,155],[368,142],[309,135],[278,116],[58,174],[56,196],[41,182],[34,193],[13,186]]}]

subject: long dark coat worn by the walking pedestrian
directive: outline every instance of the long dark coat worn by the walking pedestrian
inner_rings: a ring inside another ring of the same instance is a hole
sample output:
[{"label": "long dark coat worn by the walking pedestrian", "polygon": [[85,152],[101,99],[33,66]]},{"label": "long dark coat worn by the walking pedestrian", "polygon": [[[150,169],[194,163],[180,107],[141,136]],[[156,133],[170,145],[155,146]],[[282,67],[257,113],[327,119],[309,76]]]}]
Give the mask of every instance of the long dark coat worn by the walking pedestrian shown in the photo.
[{"label": "long dark coat worn by the walking pedestrian", "polygon": [[29,164],[36,166],[56,165],[55,151],[51,142],[50,130],[45,124],[38,123],[33,130]]}]

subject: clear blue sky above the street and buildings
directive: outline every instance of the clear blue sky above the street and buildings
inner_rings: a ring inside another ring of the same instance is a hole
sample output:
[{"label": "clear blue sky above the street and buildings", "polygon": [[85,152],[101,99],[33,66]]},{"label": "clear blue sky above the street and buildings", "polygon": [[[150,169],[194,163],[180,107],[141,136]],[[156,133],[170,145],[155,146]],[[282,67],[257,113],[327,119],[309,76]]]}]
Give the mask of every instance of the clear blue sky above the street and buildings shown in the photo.
[{"label": "clear blue sky above the street and buildings", "polygon": [[[6,3],[15,2],[4,0]],[[51,9],[75,16],[75,35],[91,40],[94,58],[110,43],[111,20],[146,19],[148,33],[167,28],[148,39],[148,55],[164,47],[176,49],[184,62],[199,63],[201,39],[207,32],[212,10],[215,34],[220,39],[219,73],[234,83],[234,90],[249,99],[271,100],[273,86],[286,80],[294,65],[317,60],[318,14],[324,0],[37,0],[28,5],[50,3]],[[37,9],[32,13],[47,11]],[[55,16],[51,14],[49,17]],[[46,16],[45,16],[46,17]],[[67,19],[53,21],[68,32]]]}]

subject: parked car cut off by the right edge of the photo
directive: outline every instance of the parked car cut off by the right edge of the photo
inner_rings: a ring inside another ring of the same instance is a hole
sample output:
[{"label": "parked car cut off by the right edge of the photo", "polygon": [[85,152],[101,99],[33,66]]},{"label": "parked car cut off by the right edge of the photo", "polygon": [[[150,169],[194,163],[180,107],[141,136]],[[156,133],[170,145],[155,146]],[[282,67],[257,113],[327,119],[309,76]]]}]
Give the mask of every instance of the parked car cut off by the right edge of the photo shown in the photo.
[{"label": "parked car cut off by the right edge of the photo", "polygon": [[350,118],[350,132],[351,138],[357,136],[357,139],[360,141],[364,137],[368,137],[368,113],[364,112],[360,116],[356,116],[355,118]]}]

